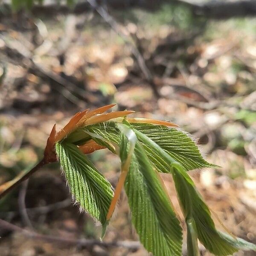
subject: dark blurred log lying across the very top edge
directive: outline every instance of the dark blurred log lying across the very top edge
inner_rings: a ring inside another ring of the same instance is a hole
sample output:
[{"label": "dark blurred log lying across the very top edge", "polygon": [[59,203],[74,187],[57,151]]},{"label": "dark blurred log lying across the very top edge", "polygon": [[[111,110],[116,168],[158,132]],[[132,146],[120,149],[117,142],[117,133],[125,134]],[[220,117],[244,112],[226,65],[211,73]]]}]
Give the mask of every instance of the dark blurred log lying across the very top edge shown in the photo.
[{"label": "dark blurred log lying across the very top edge", "polygon": [[[113,9],[127,9],[139,7],[151,11],[159,9],[161,4],[170,3],[167,0],[147,0],[147,1],[136,1],[136,0],[100,0],[99,3],[107,3]],[[195,16],[205,16],[214,19],[226,19],[230,17],[244,17],[244,16],[255,16],[256,15],[256,2],[255,0],[234,0],[234,1],[223,1],[223,0],[211,0],[211,1],[193,1],[193,0],[172,0],[172,3],[184,4],[192,9]],[[10,6],[4,3],[2,6],[4,10],[10,10]],[[64,4],[45,4],[35,5],[32,8],[33,15],[56,15],[57,13],[68,14],[81,14],[90,11],[90,4],[87,1],[77,3],[73,8],[70,8]],[[3,13],[3,15],[8,15]]]}]

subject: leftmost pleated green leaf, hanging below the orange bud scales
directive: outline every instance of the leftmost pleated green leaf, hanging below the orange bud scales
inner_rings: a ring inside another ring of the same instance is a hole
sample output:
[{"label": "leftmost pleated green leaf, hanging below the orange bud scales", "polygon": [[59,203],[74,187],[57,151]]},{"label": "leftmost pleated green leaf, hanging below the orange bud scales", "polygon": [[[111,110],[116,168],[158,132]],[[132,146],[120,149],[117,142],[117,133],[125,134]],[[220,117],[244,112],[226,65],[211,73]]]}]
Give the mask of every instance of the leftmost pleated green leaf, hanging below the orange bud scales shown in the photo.
[{"label": "leftmost pleated green leaf, hanging below the orange bud scales", "polygon": [[82,209],[104,225],[113,197],[111,184],[76,145],[56,143],[56,153],[70,192]]}]

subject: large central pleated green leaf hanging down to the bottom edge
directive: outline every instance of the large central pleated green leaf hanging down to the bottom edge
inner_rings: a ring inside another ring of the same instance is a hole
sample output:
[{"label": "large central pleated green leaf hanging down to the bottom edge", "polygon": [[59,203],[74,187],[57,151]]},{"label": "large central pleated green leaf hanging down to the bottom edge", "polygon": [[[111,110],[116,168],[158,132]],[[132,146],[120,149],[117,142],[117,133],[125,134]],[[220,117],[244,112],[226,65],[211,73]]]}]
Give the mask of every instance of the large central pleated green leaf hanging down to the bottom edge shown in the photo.
[{"label": "large central pleated green leaf hanging down to the bottom edge", "polygon": [[139,143],[126,177],[125,191],[132,222],[145,249],[154,256],[180,256],[182,229],[169,196]]}]

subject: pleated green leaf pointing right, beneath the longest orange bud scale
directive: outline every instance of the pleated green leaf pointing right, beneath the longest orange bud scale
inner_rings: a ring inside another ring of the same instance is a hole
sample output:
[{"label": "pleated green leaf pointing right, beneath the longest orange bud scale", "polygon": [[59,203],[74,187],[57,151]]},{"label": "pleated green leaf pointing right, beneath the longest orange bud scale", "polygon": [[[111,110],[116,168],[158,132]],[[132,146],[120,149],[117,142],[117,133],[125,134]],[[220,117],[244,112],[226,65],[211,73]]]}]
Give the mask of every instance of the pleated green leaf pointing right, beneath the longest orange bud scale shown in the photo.
[{"label": "pleated green leaf pointing right, beneath the longest orange bud scale", "polygon": [[[133,123],[131,126],[157,143],[160,148],[180,163],[187,171],[203,167],[217,167],[216,165],[204,160],[195,142],[183,131],[179,131],[175,128],[167,128],[166,126],[161,125]],[[82,129],[85,133],[86,131],[90,131],[105,137],[105,139],[111,142],[116,144],[120,143],[120,136],[116,133],[115,124],[113,122],[90,125]],[[81,130],[79,131],[79,134],[81,137]],[[73,142],[77,135],[72,135]],[[140,138],[138,139],[140,140]],[[148,147],[141,140],[140,142],[143,144],[147,156],[154,166],[157,167],[158,171],[169,173],[169,165],[161,160],[154,148]]]}]

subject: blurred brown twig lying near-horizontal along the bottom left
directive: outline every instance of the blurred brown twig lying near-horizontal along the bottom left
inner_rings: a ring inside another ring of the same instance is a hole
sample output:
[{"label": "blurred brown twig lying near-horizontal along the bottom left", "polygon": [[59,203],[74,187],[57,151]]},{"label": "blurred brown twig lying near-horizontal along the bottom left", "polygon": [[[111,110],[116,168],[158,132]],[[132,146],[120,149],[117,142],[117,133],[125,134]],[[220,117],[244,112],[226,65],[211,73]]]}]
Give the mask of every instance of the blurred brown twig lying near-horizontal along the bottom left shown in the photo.
[{"label": "blurred brown twig lying near-horizontal along the bottom left", "polygon": [[0,219],[0,227],[5,228],[7,230],[12,230],[15,232],[23,233],[23,235],[31,238],[48,241],[50,243],[64,243],[64,244],[79,244],[84,247],[92,247],[98,245],[100,247],[111,248],[111,247],[124,247],[129,250],[138,250],[140,248],[140,243],[137,241],[113,241],[113,242],[104,242],[96,239],[70,239],[65,237],[57,237],[57,236],[46,236],[38,234],[34,231],[25,230],[21,227],[18,227],[14,224],[11,224],[7,221]]}]

